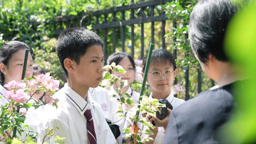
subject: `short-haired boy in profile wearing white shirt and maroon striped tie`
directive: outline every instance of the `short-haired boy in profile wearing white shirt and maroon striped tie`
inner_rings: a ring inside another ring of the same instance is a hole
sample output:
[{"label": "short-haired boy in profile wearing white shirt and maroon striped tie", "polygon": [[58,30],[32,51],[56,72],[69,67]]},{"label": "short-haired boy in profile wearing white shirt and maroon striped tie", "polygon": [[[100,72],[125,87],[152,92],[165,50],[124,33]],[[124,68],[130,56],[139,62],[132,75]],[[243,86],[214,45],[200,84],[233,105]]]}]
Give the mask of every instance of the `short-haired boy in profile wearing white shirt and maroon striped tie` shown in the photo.
[{"label": "short-haired boy in profile wearing white shirt and maroon striped tie", "polygon": [[[116,144],[104,114],[91,100],[88,89],[96,88],[103,73],[103,42],[83,27],[65,30],[58,37],[57,54],[67,76],[64,88],[53,97],[58,108],[45,107],[44,120],[38,128],[38,143],[49,128],[58,126],[55,136],[65,137],[65,144]],[[47,143],[54,143],[50,138]]]}]

